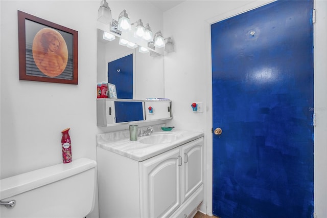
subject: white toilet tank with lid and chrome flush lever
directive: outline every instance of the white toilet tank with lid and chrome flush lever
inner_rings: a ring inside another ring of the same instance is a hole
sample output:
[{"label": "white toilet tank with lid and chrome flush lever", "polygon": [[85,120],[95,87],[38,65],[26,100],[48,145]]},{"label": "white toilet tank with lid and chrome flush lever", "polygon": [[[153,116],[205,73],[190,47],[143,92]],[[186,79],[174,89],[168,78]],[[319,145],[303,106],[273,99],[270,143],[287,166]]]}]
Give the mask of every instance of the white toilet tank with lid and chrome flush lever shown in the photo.
[{"label": "white toilet tank with lid and chrome flush lever", "polygon": [[2,179],[0,217],[85,217],[94,208],[96,166],[80,158]]}]

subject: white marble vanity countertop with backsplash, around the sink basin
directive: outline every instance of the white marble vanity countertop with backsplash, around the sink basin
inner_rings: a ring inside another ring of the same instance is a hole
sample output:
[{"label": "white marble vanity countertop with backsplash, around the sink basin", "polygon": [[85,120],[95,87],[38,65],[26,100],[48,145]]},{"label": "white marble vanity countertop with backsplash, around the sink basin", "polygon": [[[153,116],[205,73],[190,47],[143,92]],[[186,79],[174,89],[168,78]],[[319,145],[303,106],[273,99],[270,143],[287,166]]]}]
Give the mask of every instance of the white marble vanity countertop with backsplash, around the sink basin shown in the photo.
[{"label": "white marble vanity countertop with backsplash, around the sink basin", "polygon": [[[161,154],[167,150],[178,147],[195,139],[204,136],[201,132],[190,132],[185,130],[173,129],[172,131],[158,130],[156,134],[174,134],[178,135],[173,142],[160,144],[144,144],[140,140],[149,136],[138,137],[137,141],[129,140],[129,132],[126,130],[121,133],[104,133],[97,135],[97,146],[105,150],[115,152],[116,154],[131,158],[136,161],[144,161],[151,157]],[[151,137],[151,136],[150,136]]]}]

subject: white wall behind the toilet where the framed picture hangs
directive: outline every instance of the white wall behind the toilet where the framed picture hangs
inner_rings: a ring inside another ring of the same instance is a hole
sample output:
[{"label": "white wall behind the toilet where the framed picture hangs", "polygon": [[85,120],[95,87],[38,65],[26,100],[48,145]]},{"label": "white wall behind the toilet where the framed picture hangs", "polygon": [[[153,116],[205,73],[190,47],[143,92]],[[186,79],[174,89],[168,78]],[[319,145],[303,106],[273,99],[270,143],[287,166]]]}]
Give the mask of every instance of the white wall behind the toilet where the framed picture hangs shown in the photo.
[{"label": "white wall behind the toilet where the framed picture hangs", "polygon": [[[78,85],[19,80],[17,10],[78,31]],[[90,1],[1,1],[1,178],[60,163],[66,127],[73,158],[96,160],[97,10]]]}]

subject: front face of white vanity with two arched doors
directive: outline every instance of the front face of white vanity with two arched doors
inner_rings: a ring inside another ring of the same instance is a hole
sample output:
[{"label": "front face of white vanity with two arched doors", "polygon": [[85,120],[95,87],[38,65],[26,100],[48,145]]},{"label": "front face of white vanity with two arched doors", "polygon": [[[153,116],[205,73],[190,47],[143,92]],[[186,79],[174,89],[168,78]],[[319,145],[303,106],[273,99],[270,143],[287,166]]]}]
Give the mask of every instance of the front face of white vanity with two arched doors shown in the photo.
[{"label": "front face of white vanity with two arched doors", "polygon": [[203,197],[199,191],[195,207],[179,209],[202,188],[202,150],[200,138],[140,162],[141,217],[188,217],[201,203]]}]

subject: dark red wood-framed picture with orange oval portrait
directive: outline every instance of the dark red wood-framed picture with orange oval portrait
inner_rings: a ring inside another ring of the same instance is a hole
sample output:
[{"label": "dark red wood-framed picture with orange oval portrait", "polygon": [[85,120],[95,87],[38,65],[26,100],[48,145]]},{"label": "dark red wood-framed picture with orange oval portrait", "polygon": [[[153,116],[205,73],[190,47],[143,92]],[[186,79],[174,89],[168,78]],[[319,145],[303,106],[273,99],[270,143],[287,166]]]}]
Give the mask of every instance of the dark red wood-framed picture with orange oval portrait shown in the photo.
[{"label": "dark red wood-framed picture with orange oval portrait", "polygon": [[18,11],[19,79],[78,84],[78,32]]}]

